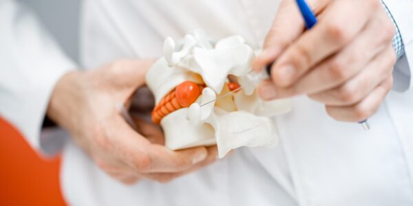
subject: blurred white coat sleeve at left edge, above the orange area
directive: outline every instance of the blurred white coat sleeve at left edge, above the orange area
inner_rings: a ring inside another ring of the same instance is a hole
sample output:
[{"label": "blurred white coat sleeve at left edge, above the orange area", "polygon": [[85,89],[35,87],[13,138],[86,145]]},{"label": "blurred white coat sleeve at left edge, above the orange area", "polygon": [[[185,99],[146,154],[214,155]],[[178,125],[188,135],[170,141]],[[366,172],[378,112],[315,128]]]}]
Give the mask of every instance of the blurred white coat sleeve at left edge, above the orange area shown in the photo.
[{"label": "blurred white coat sleeve at left edge, above the orange area", "polygon": [[56,82],[76,65],[19,1],[0,0],[0,116],[36,151]]}]

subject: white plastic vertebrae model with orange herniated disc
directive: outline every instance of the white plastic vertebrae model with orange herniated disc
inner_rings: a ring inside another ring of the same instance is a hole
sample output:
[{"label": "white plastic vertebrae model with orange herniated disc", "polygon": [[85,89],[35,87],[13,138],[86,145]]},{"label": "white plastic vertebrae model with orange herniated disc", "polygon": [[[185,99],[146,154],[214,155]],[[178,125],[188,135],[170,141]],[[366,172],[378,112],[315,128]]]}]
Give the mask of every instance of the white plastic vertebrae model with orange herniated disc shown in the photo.
[{"label": "white plastic vertebrae model with orange herniated disc", "polygon": [[277,144],[270,116],[289,111],[290,100],[257,97],[250,66],[255,54],[244,38],[213,41],[195,31],[177,43],[166,38],[163,53],[146,78],[156,100],[152,119],[162,126],[167,148],[217,144],[224,157],[240,146]]}]

